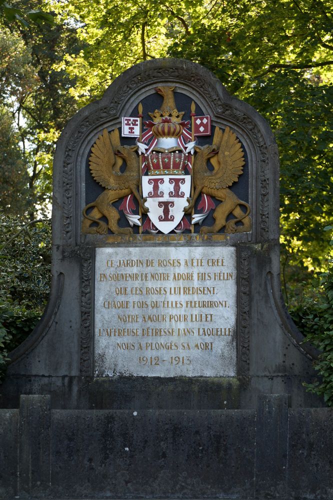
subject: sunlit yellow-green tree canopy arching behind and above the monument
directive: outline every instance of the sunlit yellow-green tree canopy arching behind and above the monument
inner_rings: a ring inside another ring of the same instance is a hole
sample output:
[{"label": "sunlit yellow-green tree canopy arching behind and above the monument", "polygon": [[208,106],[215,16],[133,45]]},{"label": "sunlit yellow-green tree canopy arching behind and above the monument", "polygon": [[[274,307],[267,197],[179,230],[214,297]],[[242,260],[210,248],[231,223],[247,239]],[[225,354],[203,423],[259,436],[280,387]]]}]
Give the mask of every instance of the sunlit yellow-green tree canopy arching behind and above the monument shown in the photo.
[{"label": "sunlit yellow-green tree canopy arching behind and above the monument", "polygon": [[285,260],[320,269],[333,176],[328,0],[21,0],[13,6],[22,17],[37,8],[54,17],[47,27],[2,20],[17,46],[17,63],[7,61],[8,76],[0,78],[2,105],[20,134],[31,200],[47,200],[54,141],[77,107],[100,97],[136,62],[182,57],[212,70],[271,124],[281,160]]}]

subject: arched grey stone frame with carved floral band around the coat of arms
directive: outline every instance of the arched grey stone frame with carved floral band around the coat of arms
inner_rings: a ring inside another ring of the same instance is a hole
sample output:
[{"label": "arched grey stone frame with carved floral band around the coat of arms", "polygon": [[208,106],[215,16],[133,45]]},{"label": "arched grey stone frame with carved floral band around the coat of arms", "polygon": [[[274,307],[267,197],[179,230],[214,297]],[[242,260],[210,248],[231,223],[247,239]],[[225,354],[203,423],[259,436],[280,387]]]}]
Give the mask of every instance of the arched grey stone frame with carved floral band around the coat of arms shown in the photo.
[{"label": "arched grey stone frame with carved floral band around the coat of arms", "polygon": [[[244,136],[250,137],[251,143],[248,144],[248,148],[251,149],[257,168],[257,184],[253,184],[253,200],[258,200],[257,206],[252,206],[252,216],[256,220],[253,220],[251,240],[256,242],[270,239],[272,236],[277,237],[278,225],[273,220],[271,210],[271,205],[277,198],[276,192],[274,193],[271,187],[277,178],[278,166],[269,165],[268,147],[275,148],[275,144],[266,122],[251,106],[228,95],[221,83],[201,66],[189,61],[157,59],[137,64],[125,71],[110,85],[100,101],[79,111],[69,122],[71,126],[66,127],[69,130],[65,129],[62,134],[59,145],[64,141],[65,144],[61,144],[62,147],[57,147],[57,150],[63,150],[64,146],[64,154],[61,160],[56,154],[55,164],[58,164],[59,160],[62,163],[62,178],[59,176],[56,181],[62,184],[63,196],[62,200],[53,200],[54,203],[59,203],[60,206],[62,203],[63,206],[61,243],[72,247],[84,244],[84,241],[81,242],[80,220],[77,217],[81,203],[74,189],[79,180],[77,177],[80,175],[82,146],[89,142],[88,147],[90,147],[91,137],[96,136],[103,127],[112,123],[113,126],[117,126],[121,115],[133,106],[135,96],[137,100],[137,94],[143,96],[151,92],[157,83],[173,83],[180,89],[188,87],[196,99],[203,102],[203,106],[215,121],[229,124],[235,130],[243,131]],[[259,126],[260,122],[263,127]],[[90,141],[87,138],[90,138]],[[277,159],[276,151],[275,158]],[[273,199],[269,199],[268,193]],[[89,238],[83,239],[91,244]],[[98,236],[98,244],[105,239],[104,236]],[[136,240],[139,241],[140,238],[137,237]]]}]

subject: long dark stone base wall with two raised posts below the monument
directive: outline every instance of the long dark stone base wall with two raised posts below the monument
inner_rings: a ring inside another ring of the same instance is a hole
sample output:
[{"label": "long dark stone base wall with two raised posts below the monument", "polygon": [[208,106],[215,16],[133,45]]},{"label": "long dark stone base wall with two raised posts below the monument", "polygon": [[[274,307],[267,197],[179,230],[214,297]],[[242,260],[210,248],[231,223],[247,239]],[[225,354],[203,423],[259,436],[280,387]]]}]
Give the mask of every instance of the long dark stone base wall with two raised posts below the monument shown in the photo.
[{"label": "long dark stone base wall with two raised posts below the monument", "polygon": [[0,498],[333,498],[333,409],[0,410]]}]

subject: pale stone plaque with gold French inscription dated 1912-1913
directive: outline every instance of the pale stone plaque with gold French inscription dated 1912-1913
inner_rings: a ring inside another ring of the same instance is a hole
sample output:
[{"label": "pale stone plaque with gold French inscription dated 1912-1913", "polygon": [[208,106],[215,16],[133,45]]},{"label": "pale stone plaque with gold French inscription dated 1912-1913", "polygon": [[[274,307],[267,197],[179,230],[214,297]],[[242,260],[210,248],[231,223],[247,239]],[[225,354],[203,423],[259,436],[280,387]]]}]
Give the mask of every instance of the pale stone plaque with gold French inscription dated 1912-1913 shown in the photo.
[{"label": "pale stone plaque with gold French inscription dated 1912-1913", "polygon": [[234,247],[95,252],[96,376],[236,375]]}]

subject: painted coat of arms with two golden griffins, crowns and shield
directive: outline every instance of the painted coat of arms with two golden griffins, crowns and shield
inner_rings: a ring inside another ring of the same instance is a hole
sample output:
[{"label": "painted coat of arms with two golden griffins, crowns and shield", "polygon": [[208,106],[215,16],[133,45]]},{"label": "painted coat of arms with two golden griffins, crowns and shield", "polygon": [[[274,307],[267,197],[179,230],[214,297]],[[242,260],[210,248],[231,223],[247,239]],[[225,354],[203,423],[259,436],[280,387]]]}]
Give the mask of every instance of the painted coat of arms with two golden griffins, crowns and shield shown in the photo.
[{"label": "painted coat of arms with two golden griffins, crowns and shield", "polygon": [[[200,233],[250,231],[250,207],[229,189],[244,165],[235,133],[215,126],[212,143],[198,146],[198,136],[211,135],[210,116],[196,116],[192,102],[185,120],[174,87],[155,90],[163,102],[148,113],[149,120],[142,120],[141,104],[136,117],[122,118],[121,134],[133,137],[132,145],[121,145],[116,128],[104,129],[92,146],[90,172],[105,190],[84,207],[82,232],[131,234],[134,225],[139,232],[194,232],[210,210],[214,222],[201,225]],[[118,224],[121,210],[127,227]]]}]

